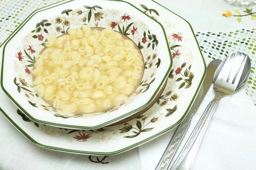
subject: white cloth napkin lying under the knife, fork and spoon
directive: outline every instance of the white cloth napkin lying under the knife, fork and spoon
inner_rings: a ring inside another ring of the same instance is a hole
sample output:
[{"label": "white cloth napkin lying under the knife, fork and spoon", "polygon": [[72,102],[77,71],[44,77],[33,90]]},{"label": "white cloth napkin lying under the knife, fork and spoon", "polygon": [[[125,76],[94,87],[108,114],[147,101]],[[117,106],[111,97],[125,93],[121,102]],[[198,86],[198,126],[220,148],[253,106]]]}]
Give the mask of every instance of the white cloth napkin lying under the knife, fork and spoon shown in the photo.
[{"label": "white cloth napkin lying under the knife, fork and spoon", "polygon": [[[214,95],[210,88],[177,153]],[[154,170],[174,131],[139,147],[142,170]],[[193,170],[255,170],[255,134],[256,108],[245,91],[241,89],[232,96],[222,98],[204,135]]]}]

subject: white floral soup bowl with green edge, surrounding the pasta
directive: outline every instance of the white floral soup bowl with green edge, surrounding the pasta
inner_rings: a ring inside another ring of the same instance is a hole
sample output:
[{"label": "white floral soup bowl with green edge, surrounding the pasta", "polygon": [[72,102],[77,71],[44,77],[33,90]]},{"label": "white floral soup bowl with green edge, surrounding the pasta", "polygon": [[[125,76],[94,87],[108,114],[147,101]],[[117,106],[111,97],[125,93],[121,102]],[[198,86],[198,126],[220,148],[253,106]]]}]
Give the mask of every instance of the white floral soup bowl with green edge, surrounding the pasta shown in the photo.
[{"label": "white floral soup bowl with green edge, surrounding the pasta", "polygon": [[[82,25],[111,28],[132,40],[143,57],[143,76],[134,93],[113,108],[96,113],[66,113],[38,95],[32,73],[52,37]],[[158,94],[172,67],[163,26],[124,1],[76,0],[38,11],[3,48],[1,87],[12,102],[34,122],[71,129],[104,127],[141,111]]]}]

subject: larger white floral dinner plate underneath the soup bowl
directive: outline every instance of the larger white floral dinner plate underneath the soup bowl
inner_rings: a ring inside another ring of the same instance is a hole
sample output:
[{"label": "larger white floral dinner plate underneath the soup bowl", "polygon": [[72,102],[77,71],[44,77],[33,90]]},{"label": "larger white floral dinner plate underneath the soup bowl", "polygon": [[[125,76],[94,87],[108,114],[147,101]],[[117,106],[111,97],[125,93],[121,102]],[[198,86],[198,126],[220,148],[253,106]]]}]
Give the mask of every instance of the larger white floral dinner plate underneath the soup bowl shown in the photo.
[{"label": "larger white floral dinner plate underneath the soup bowl", "polygon": [[[64,2],[67,1],[52,6]],[[129,122],[95,130],[69,130],[32,122],[0,90],[1,112],[31,142],[69,153],[113,155],[166,133],[186,116],[206,74],[206,65],[192,27],[186,20],[154,1],[128,2],[165,28],[172,51],[173,68],[163,95],[148,111]],[[0,47],[2,52],[3,45]]]}]

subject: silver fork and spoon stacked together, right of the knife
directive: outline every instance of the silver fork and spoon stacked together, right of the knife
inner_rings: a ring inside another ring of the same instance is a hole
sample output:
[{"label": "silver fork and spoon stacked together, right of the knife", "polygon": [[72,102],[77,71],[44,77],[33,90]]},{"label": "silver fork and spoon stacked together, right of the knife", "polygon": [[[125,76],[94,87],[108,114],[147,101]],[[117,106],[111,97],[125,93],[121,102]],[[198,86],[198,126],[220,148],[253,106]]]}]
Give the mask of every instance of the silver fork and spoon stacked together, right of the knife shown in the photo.
[{"label": "silver fork and spoon stacked together, right of the knife", "polygon": [[201,119],[172,165],[171,170],[175,170],[178,167],[195,140],[204,136],[204,132],[217,108],[219,100],[224,96],[233,94],[238,87],[239,81],[245,79],[245,77],[241,77],[242,73],[244,71],[250,71],[248,69],[250,68],[250,58],[244,53],[230,53],[229,57],[224,59],[223,62],[224,65],[221,65],[222,67],[219,66],[214,74],[213,90],[215,91],[215,97],[207,106],[208,109],[204,111]]}]

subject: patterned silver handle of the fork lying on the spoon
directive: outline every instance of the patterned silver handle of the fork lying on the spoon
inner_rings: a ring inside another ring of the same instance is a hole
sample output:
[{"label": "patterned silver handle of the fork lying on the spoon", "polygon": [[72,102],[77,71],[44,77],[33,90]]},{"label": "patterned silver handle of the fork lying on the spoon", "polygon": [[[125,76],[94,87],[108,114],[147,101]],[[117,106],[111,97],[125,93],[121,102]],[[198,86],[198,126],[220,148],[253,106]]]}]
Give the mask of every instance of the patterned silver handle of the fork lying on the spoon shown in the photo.
[{"label": "patterned silver handle of the fork lying on the spoon", "polygon": [[[208,109],[206,109],[204,111],[203,115],[201,116],[200,120],[198,121],[197,125],[195,126],[194,130],[192,131],[191,135],[189,136],[189,139],[187,140],[185,146],[183,147],[183,149],[181,150],[177,159],[175,160],[174,164],[172,165],[171,170],[175,170],[178,167],[178,165],[184,159],[186,154],[189,152],[189,150],[190,150],[191,146],[194,144],[195,140],[198,138],[198,135],[199,135],[199,133],[201,133],[201,130],[203,128],[206,130],[206,128],[209,124],[209,121],[212,118],[213,113],[216,111],[218,102],[222,96],[223,96],[223,94],[217,93],[215,95],[214,99],[212,100],[212,102],[209,103],[209,105],[207,106]],[[203,137],[203,135],[200,137]]]}]

